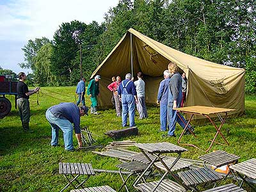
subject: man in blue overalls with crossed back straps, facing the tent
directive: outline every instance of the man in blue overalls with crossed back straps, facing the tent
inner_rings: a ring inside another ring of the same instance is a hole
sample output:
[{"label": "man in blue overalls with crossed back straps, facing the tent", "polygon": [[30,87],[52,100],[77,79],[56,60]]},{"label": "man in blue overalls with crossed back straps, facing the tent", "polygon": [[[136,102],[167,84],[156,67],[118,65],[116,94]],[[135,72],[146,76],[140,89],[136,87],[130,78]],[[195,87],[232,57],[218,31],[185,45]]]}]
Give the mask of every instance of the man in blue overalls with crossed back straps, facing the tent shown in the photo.
[{"label": "man in blue overalls with crossed back straps, facing the tent", "polygon": [[[138,103],[137,92],[133,81],[132,75],[126,74],[125,80],[122,81],[118,87],[118,97],[122,101],[122,126],[127,126],[127,116],[129,113],[130,127],[135,126],[135,103]],[[122,97],[121,97],[122,95]]]}]

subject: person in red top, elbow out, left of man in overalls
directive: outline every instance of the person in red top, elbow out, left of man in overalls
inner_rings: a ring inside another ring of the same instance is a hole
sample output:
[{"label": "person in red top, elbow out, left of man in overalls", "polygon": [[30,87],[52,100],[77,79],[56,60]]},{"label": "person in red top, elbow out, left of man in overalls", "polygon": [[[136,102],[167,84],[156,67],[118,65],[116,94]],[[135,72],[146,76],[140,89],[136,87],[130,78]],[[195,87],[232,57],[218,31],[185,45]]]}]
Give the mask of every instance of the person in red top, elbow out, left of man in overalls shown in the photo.
[{"label": "person in red top, elbow out, left of man in overalls", "polygon": [[121,104],[120,104],[120,100],[119,100],[118,92],[117,92],[118,86],[121,83],[121,81],[122,81],[121,77],[117,76],[116,81],[108,85],[108,89],[111,92],[113,92],[113,96],[114,96],[114,99],[115,99],[116,116],[122,116]]}]

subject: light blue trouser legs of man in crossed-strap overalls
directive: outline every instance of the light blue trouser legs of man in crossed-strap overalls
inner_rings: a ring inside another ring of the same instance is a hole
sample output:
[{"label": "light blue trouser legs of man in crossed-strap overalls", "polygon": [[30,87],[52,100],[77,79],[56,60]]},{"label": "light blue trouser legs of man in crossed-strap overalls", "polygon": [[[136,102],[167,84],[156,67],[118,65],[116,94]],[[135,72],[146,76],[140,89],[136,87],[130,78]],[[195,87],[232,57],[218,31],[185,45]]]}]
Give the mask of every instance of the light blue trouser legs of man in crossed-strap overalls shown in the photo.
[{"label": "light blue trouser legs of man in crossed-strap overalls", "polygon": [[133,95],[122,95],[122,125],[127,126],[127,117],[129,113],[130,127],[135,126],[135,99]]}]

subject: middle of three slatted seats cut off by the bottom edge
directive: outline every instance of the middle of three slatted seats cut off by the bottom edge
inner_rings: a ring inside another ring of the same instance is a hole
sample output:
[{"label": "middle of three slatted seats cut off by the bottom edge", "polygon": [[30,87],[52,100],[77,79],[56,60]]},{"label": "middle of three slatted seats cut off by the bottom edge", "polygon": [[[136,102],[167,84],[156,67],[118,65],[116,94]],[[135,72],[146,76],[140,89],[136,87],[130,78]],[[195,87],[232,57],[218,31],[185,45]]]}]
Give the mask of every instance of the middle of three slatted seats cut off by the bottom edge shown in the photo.
[{"label": "middle of three slatted seats cut off by the bottom edge", "polygon": [[[146,183],[141,183],[138,184],[137,186],[134,186],[134,188],[146,192],[146,191],[152,191],[155,186],[157,185],[159,181],[153,181],[153,182],[146,182]],[[185,188],[180,186],[177,182],[174,182],[172,180],[164,179],[159,186],[156,188],[156,192],[184,192],[186,191]]]}]

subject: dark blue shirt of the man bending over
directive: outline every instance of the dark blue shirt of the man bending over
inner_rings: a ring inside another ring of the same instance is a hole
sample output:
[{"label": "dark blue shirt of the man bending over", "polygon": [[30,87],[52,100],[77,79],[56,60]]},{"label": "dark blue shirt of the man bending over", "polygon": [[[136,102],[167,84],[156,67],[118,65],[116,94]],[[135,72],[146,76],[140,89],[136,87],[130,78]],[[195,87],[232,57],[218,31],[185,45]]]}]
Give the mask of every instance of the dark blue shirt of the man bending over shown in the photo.
[{"label": "dark blue shirt of the man bending over", "polygon": [[51,111],[52,115],[56,116],[57,118],[69,120],[72,124],[74,124],[76,134],[81,133],[80,109],[76,106],[76,104],[72,102],[62,102],[49,108],[49,111]]}]

